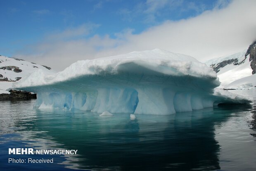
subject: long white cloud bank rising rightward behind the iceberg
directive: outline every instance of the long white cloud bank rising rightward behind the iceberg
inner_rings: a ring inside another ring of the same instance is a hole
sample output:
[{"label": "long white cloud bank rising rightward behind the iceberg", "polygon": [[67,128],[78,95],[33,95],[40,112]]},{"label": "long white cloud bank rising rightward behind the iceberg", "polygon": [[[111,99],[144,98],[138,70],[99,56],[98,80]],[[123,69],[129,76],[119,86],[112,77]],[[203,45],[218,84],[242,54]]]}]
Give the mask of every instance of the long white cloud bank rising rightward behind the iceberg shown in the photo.
[{"label": "long white cloud bank rising rightward behind the iceberg", "polygon": [[[29,47],[34,49],[34,53],[30,55],[19,53],[16,56],[48,65],[56,70],[62,70],[81,59],[155,48],[187,54],[199,61],[206,61],[242,51],[256,39],[255,7],[255,0],[236,0],[225,8],[214,8],[194,18],[165,21],[140,34],[133,34],[132,30],[128,29],[117,33],[117,38],[95,35],[78,40],[47,41]],[[73,30],[77,31],[77,35],[85,33],[83,26]],[[76,36],[72,30],[64,31],[60,35]]]}]

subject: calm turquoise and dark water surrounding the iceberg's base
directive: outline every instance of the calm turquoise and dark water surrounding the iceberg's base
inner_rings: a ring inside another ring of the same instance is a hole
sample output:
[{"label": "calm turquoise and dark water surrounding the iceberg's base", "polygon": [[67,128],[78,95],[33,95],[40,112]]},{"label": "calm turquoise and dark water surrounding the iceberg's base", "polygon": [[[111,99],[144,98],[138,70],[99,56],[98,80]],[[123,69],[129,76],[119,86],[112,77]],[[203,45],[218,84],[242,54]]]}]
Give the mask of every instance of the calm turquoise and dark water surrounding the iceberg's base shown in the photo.
[{"label": "calm turquoise and dark water surrounding the iceberg's base", "polygon": [[[253,96],[255,90],[239,91]],[[256,170],[256,103],[174,115],[38,110],[0,102],[0,170]],[[8,155],[8,148],[78,150],[77,155]],[[9,158],[54,163],[8,163]]]}]

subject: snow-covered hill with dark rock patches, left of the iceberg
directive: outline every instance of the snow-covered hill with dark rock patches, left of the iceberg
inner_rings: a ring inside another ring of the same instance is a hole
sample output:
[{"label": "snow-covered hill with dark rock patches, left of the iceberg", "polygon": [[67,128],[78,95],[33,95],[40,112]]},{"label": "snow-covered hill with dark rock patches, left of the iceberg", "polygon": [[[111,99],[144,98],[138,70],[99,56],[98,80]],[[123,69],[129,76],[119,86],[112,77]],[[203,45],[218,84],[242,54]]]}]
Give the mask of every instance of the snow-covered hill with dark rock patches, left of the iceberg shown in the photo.
[{"label": "snow-covered hill with dark rock patches, left of the iceberg", "polygon": [[39,69],[45,74],[55,73],[47,66],[0,55],[0,94],[9,94],[6,89],[12,88],[13,82],[17,82],[22,77]]}]

